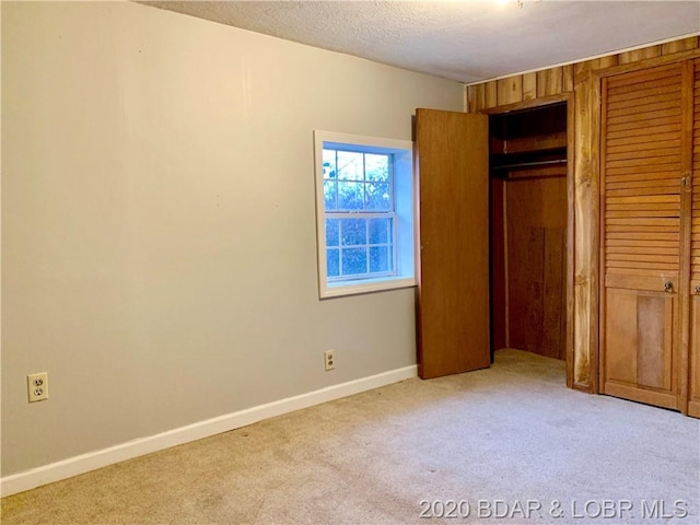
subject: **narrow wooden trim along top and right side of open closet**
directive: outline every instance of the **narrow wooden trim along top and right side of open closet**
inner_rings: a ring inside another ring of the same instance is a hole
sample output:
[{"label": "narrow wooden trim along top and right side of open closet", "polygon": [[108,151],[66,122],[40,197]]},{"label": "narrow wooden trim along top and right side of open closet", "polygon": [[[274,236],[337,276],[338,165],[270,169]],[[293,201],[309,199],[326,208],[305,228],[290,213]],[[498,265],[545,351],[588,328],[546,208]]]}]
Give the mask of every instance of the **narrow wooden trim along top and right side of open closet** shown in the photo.
[{"label": "narrow wooden trim along top and right side of open closet", "polygon": [[[574,306],[574,97],[573,93],[562,93],[559,95],[533,98],[530,101],[517,102],[503,106],[495,106],[482,109],[485,115],[502,115],[522,109],[534,109],[552,104],[567,104],[567,312],[565,312],[565,363],[567,363],[567,386],[578,388],[574,383],[574,340],[573,340],[573,306]],[[490,174],[489,174],[490,177]],[[491,217],[489,215],[489,223]],[[596,327],[597,329],[597,327]],[[596,363],[597,366],[597,363]],[[581,388],[588,390],[587,387]]]}]

